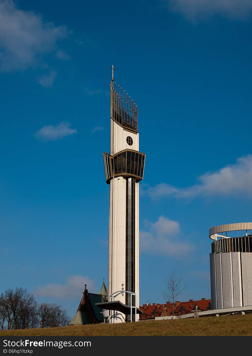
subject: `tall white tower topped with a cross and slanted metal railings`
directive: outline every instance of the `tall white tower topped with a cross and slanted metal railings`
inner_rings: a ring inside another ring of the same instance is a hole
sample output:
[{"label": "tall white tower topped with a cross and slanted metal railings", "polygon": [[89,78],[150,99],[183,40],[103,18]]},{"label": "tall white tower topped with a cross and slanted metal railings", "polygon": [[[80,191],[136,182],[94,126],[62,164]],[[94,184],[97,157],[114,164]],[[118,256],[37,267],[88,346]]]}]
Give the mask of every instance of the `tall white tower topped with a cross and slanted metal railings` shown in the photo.
[{"label": "tall white tower topped with a cross and slanted metal railings", "polygon": [[[103,153],[106,182],[110,185],[108,294],[136,293],[139,307],[139,182],[143,179],[145,154],[139,152],[137,106],[119,85],[110,84],[110,154]],[[130,295],[116,297],[130,306]],[[134,315],[135,316],[135,315]],[[137,315],[138,318],[138,315]],[[121,312],[113,322],[128,321]]]}]

